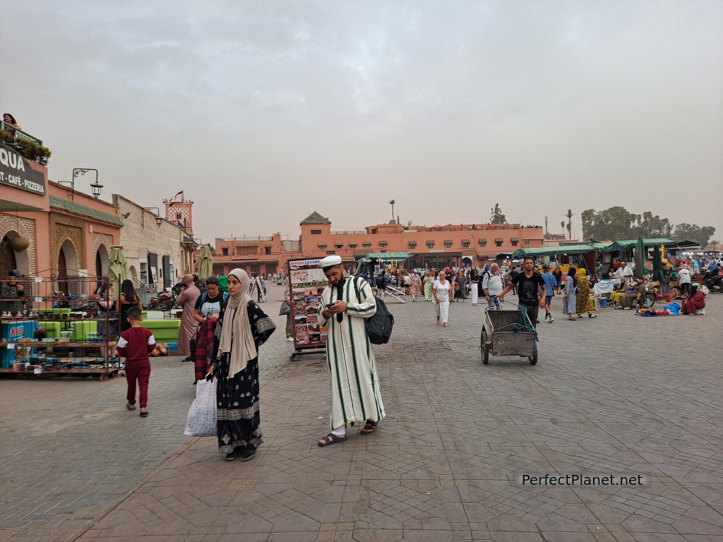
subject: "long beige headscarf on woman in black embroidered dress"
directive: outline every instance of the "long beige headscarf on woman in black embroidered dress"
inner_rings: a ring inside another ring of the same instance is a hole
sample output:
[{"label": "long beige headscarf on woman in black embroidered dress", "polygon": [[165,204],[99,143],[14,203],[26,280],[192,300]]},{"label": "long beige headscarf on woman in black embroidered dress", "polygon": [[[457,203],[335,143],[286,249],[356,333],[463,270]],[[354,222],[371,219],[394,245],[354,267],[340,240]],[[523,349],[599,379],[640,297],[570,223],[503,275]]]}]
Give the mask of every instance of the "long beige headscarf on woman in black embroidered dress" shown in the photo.
[{"label": "long beige headscarf on woman in black embroidered dress", "polygon": [[[231,353],[228,377],[233,378],[237,373],[246,369],[249,361],[255,358],[257,353],[248,310],[249,301],[252,301],[251,296],[249,296],[251,279],[242,269],[234,269],[228,275],[239,280],[241,293],[228,298],[226,314],[223,316],[223,327],[221,328],[221,342],[218,344],[218,356],[216,358],[220,359],[224,353]],[[233,348],[231,345],[233,345]]]}]

